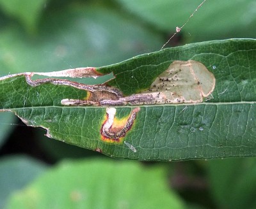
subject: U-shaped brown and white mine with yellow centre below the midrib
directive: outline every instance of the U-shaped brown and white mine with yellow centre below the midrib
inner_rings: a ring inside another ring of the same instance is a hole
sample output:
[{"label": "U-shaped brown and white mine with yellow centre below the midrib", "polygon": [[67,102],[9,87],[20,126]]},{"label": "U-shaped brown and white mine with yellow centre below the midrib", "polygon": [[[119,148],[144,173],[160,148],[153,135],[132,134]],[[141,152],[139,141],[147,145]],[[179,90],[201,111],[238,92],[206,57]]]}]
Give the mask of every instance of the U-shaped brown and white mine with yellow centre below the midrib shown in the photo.
[{"label": "U-shaped brown and white mine with yellow centre below the midrib", "polygon": [[134,108],[128,119],[117,120],[115,118],[116,108],[106,109],[106,120],[102,124],[100,134],[102,140],[106,142],[120,142],[120,138],[124,137],[127,131],[129,131],[134,123],[136,114],[140,111],[140,108]]}]

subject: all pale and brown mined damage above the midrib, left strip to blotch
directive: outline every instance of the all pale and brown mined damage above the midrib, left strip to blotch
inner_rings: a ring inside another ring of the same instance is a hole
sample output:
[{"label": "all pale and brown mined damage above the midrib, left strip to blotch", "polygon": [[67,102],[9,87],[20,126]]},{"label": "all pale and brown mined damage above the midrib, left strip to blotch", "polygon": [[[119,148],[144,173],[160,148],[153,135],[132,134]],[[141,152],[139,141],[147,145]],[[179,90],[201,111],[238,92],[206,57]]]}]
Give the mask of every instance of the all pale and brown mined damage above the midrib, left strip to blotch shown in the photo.
[{"label": "all pale and brown mined damage above the midrib, left strip to blotch", "polygon": [[[88,96],[84,99],[62,99],[62,105],[92,105],[92,106],[123,106],[123,105],[163,105],[173,103],[201,103],[211,96],[215,87],[215,77],[201,62],[174,61],[166,71],[161,73],[152,82],[150,88],[140,94],[124,97],[115,87],[102,85],[86,85],[69,80],[44,78],[32,80],[33,75],[97,77],[95,68],[75,68],[50,73],[21,73],[0,78],[24,75],[26,82],[32,87],[43,83],[68,85],[77,89],[86,90]],[[143,82],[143,81],[140,81]]]}]

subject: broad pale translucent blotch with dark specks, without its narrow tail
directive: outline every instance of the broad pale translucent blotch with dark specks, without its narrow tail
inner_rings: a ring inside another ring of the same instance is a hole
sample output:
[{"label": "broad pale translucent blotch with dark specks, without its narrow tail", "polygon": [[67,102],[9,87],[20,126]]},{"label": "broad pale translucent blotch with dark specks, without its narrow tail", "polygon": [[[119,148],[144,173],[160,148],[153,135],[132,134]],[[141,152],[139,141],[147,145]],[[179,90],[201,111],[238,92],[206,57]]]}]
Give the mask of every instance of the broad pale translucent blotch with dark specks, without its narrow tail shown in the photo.
[{"label": "broad pale translucent blotch with dark specks, without its narrow tail", "polygon": [[214,87],[214,75],[201,62],[174,61],[146,92],[154,92],[157,103],[198,103],[209,96]]}]

